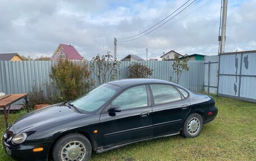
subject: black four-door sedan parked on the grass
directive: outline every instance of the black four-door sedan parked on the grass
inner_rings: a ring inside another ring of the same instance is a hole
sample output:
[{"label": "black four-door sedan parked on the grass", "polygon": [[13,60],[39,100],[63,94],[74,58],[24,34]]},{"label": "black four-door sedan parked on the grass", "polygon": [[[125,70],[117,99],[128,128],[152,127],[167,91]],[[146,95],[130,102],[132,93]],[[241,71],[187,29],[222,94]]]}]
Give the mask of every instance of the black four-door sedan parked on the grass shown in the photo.
[{"label": "black four-door sedan parked on the grass", "polygon": [[133,142],[181,134],[195,137],[218,113],[211,96],[154,79],[103,84],[72,101],[21,117],[2,137],[17,160],[88,160]]}]

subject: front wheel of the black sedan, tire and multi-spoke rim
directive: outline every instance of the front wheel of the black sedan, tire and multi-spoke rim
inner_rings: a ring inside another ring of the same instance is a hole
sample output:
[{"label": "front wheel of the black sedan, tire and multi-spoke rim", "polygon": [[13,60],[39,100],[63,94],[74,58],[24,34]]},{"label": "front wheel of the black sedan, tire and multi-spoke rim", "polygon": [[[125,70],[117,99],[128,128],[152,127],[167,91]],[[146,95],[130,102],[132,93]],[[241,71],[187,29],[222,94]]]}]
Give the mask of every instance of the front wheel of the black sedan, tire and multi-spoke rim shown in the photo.
[{"label": "front wheel of the black sedan, tire and multi-spoke rim", "polygon": [[81,134],[71,133],[62,136],[53,147],[53,160],[87,161],[92,153],[90,141]]}]

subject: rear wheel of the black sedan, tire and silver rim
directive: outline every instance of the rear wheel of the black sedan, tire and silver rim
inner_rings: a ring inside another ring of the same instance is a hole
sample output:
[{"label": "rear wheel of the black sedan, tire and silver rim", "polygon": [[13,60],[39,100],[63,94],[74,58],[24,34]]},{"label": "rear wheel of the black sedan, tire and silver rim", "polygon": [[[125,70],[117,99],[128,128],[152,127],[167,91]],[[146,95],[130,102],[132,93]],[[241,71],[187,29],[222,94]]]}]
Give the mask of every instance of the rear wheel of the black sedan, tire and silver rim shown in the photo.
[{"label": "rear wheel of the black sedan, tire and silver rim", "polygon": [[200,134],[203,128],[203,118],[198,113],[190,114],[186,118],[183,128],[181,130],[181,135],[184,137],[196,137]]}]

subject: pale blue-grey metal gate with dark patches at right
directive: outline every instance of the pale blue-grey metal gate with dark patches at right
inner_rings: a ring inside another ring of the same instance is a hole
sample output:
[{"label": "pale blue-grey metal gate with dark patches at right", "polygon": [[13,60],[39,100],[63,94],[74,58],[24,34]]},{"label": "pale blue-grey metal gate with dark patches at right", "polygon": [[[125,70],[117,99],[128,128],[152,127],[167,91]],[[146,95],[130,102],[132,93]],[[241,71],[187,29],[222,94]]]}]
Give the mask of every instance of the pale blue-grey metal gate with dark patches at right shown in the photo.
[{"label": "pale blue-grey metal gate with dark patches at right", "polygon": [[256,50],[220,54],[217,95],[256,102]]}]

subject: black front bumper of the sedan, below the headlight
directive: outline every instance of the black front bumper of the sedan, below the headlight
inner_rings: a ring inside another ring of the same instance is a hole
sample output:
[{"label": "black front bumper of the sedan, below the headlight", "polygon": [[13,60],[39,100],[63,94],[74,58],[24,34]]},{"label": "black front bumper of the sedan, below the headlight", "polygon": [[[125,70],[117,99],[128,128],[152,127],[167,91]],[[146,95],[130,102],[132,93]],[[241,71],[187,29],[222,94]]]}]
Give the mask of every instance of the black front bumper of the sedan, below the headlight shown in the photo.
[{"label": "black front bumper of the sedan, below the headlight", "polygon": [[[41,142],[29,145],[12,145],[11,143],[8,144],[4,137],[2,138],[4,151],[15,160],[47,160],[51,144],[52,142]],[[43,148],[43,151],[33,152],[35,148]]]}]

